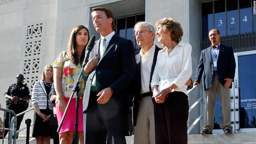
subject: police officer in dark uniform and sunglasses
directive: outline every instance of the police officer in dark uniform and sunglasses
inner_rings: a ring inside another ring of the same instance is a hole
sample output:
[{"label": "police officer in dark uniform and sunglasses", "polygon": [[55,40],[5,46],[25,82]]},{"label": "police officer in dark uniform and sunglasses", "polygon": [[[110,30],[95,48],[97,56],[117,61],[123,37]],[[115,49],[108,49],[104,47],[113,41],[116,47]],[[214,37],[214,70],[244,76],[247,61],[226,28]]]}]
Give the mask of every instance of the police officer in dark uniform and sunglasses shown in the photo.
[{"label": "police officer in dark uniform and sunglasses", "polygon": [[[9,86],[7,91],[4,93],[6,100],[6,109],[13,110],[16,115],[27,110],[28,100],[30,99],[30,91],[26,85],[22,82],[24,80],[24,76],[22,74],[17,75],[16,77],[17,83]],[[13,115],[11,115],[11,118]],[[20,129],[21,121],[24,117],[20,115],[17,117],[17,130]],[[4,119],[4,127],[9,128],[9,113],[6,113],[6,117]],[[7,135],[8,130],[5,130],[4,137]],[[17,136],[18,138],[18,136]]]}]

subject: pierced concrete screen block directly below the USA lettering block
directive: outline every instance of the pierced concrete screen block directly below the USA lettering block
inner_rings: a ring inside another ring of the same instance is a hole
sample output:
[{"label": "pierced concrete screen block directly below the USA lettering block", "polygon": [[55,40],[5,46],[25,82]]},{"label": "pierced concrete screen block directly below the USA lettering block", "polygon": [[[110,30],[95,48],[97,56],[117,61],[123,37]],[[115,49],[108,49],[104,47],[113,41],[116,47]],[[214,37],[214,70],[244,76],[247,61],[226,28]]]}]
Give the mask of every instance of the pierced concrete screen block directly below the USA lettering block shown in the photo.
[{"label": "pierced concrete screen block directly below the USA lettering block", "polygon": [[26,42],[25,57],[40,55],[41,40]]}]

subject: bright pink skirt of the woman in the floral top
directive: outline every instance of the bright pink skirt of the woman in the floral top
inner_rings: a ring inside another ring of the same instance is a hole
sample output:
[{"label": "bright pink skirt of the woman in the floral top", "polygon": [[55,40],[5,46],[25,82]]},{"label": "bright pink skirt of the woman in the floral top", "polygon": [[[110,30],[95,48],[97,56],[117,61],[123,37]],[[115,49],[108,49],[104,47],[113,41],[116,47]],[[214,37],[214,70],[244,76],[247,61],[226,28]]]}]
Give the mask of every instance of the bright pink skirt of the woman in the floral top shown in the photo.
[{"label": "bright pink skirt of the woman in the floral top", "polygon": [[[70,98],[64,98],[66,103],[68,104]],[[64,118],[62,127],[60,129],[59,134],[66,132],[66,131],[74,131],[75,130],[75,114],[76,114],[76,107],[75,107],[76,99],[73,98],[69,105],[66,117]],[[64,112],[59,111],[58,102],[56,103],[56,114],[58,119],[58,125],[60,125],[61,119],[64,115]],[[79,109],[78,109],[78,131],[84,131],[84,118],[83,118],[83,99],[79,99]],[[78,132],[79,134],[79,132]]]}]

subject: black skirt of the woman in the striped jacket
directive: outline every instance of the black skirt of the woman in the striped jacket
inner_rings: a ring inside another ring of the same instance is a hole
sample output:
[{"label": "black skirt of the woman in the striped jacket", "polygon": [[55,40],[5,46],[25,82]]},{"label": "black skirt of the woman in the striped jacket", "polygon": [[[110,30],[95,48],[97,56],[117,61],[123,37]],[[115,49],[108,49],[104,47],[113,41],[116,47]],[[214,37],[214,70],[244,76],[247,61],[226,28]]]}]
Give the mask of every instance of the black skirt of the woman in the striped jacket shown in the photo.
[{"label": "black skirt of the woman in the striped jacket", "polygon": [[[46,116],[51,115],[51,111],[48,107],[46,109],[40,109],[40,112]],[[48,126],[49,121],[43,122],[43,119],[34,111],[34,121],[33,121],[33,132],[32,136],[52,136],[51,127]]]}]

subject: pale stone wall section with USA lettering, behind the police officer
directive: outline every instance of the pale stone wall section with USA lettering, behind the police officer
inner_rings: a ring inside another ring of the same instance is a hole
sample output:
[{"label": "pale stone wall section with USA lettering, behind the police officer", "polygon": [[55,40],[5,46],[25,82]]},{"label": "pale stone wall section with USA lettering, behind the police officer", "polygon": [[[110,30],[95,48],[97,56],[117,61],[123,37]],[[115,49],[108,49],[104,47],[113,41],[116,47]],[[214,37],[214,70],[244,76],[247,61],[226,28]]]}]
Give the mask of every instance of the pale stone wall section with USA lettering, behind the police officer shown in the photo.
[{"label": "pale stone wall section with USA lettering, behind the police officer", "polygon": [[[45,65],[53,64],[57,0],[3,0],[0,2],[0,103],[4,92],[23,74],[32,92]],[[31,93],[32,94],[32,93]],[[31,106],[29,107],[31,108]],[[0,111],[3,120],[3,111]],[[33,121],[33,111],[24,116]],[[25,134],[21,132],[20,135]]]}]

